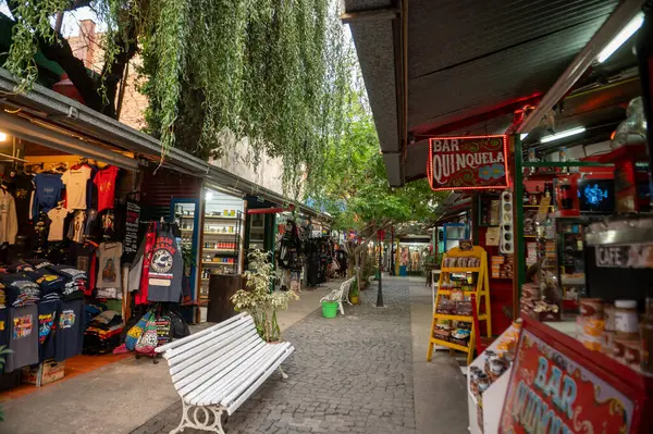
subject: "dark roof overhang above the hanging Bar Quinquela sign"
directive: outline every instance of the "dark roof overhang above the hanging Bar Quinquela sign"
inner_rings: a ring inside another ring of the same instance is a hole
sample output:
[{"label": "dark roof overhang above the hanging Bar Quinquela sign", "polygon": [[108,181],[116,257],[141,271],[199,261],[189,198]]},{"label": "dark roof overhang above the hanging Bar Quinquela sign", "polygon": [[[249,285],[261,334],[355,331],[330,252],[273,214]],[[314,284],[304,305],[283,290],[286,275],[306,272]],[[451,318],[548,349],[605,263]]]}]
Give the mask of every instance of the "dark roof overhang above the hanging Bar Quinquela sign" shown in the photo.
[{"label": "dark roof overhang above the hanging Bar Quinquela sign", "polygon": [[514,111],[540,102],[617,5],[628,13],[612,21],[625,24],[642,1],[344,3],[387,178],[399,186],[426,176],[428,136],[504,133]]}]

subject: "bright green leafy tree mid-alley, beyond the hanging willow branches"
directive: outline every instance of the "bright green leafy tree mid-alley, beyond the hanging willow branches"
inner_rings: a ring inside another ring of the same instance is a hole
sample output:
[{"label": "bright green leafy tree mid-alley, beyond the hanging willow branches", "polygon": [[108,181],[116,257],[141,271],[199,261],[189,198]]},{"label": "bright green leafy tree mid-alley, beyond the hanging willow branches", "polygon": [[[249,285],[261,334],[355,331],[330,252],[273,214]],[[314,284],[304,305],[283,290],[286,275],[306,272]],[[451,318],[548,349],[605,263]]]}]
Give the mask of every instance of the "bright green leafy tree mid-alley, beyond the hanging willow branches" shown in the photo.
[{"label": "bright green leafy tree mid-alley, beyond the hanging willow branches", "polygon": [[[343,137],[328,149],[320,183],[310,185],[309,195],[333,215],[334,230],[356,232],[358,239],[345,249],[358,272],[379,231],[432,219],[444,195],[431,190],[426,179],[391,188],[360,79],[354,82],[347,101]],[[357,278],[362,282],[360,274]]]}]

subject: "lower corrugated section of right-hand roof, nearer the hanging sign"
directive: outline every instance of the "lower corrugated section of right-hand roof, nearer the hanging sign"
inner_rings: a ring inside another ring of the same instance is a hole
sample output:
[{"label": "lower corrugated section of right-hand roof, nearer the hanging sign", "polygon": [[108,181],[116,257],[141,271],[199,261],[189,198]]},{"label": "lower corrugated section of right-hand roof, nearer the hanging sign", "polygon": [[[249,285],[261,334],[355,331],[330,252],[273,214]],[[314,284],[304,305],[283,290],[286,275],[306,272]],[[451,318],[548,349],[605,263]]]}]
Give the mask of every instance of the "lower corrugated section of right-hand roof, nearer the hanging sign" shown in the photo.
[{"label": "lower corrugated section of right-hand roof, nearer the hanging sign", "polygon": [[604,18],[594,18],[408,84],[408,124],[427,131],[545,92]]}]

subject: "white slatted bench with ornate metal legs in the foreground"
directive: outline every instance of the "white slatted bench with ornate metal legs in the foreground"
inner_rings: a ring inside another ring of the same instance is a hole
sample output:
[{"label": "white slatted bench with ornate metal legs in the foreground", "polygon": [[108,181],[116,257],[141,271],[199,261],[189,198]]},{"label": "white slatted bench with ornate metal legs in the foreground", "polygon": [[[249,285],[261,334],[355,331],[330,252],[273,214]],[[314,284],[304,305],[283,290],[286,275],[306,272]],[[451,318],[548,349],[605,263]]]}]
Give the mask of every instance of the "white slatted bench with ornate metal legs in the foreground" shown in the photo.
[{"label": "white slatted bench with ornate metal legs in the foreground", "polygon": [[268,344],[249,314],[157,348],[168,360],[172,383],[182,397],[184,429],[224,434],[222,416],[232,414],[295,350],[289,343]]}]

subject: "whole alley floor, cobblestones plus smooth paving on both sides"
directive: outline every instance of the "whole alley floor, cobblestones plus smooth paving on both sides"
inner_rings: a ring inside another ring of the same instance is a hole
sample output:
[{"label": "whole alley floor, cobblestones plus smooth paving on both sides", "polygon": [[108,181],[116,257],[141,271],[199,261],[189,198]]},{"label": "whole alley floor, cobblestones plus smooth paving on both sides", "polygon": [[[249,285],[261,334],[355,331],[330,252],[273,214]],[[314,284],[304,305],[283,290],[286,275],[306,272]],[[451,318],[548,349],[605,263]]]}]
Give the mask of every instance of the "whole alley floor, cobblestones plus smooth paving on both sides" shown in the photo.
[{"label": "whole alley floor, cobblestones plus smooth paving on both sides", "polygon": [[[280,314],[296,350],[225,425],[237,433],[467,433],[465,376],[448,351],[426,361],[431,290],[423,277],[385,277],[345,317],[321,317],[319,299],[338,285],[304,292]],[[169,433],[181,401],[167,363],[128,358],[0,404],[0,433]],[[197,434],[186,430],[185,434]]]}]

